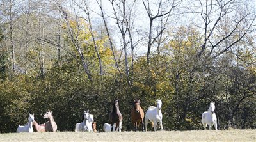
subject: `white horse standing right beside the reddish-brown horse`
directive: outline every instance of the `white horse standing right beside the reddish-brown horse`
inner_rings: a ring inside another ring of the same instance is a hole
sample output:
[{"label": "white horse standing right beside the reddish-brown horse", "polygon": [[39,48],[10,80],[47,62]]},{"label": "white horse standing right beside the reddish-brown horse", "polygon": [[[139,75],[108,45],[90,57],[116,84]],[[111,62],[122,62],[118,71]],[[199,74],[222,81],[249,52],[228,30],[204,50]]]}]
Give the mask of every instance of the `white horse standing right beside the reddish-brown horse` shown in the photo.
[{"label": "white horse standing right beside the reddish-brown horse", "polygon": [[159,122],[161,130],[163,130],[163,125],[162,125],[162,119],[163,115],[161,112],[162,108],[162,99],[158,100],[157,99],[157,106],[150,106],[146,112],[145,115],[145,131],[147,132],[147,125],[148,125],[148,120],[150,120],[152,127],[154,127],[154,131],[156,131],[156,125],[157,122]]}]

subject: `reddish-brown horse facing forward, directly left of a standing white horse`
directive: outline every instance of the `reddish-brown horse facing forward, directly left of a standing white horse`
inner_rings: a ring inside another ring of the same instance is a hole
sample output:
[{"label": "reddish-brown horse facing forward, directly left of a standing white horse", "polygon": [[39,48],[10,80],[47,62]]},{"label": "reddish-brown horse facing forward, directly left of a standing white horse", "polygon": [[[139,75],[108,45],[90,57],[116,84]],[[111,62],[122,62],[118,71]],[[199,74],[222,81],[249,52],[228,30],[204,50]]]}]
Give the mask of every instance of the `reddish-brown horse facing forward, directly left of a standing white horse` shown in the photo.
[{"label": "reddish-brown horse facing forward, directly left of a standing white horse", "polygon": [[140,122],[141,122],[143,132],[144,132],[143,118],[144,118],[144,111],[140,107],[140,100],[136,99],[136,100],[134,100],[134,107],[132,108],[132,111],[131,111],[131,122],[134,126],[134,130],[139,131],[139,126],[140,126]]}]

